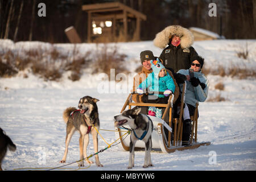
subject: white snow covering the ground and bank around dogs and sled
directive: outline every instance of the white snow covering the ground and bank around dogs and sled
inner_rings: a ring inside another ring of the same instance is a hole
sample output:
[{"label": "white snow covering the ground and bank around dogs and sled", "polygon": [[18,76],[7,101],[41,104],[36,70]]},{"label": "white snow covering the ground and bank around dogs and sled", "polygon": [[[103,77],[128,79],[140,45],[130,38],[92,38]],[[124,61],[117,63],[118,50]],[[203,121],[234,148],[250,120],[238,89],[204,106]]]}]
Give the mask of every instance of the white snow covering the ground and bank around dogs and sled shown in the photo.
[{"label": "white snow covering the ground and bank around dogs and sled", "polygon": [[[240,59],[236,56],[238,46],[250,45],[249,58]],[[15,49],[23,45],[35,43],[20,42],[3,44],[0,50],[7,46]],[[36,44],[46,44],[38,43]],[[16,46],[16,47],[15,47]],[[54,46],[68,49],[71,44],[55,44]],[[81,44],[81,48],[94,48],[94,44]],[[28,46],[27,46],[28,47]],[[119,43],[119,51],[125,52],[129,66],[134,69],[140,64],[139,52],[151,49],[159,56],[161,50],[154,47],[151,41],[137,43]],[[205,57],[206,66],[215,63],[225,68],[230,65],[243,65],[256,69],[256,40],[216,40],[195,42],[193,47]],[[131,68],[131,71],[133,71]],[[98,92],[97,75],[84,73],[80,81],[71,82],[67,75],[60,82],[43,81],[42,78],[22,73],[13,78],[0,78],[0,127],[16,144],[15,152],[7,152],[3,160],[4,170],[27,170],[27,168],[53,168],[61,166],[65,150],[65,124],[62,118],[63,110],[68,106],[77,106],[79,98],[92,96],[97,102],[101,129],[114,129],[113,115],[121,111],[127,98],[127,92]],[[203,102],[199,104],[199,142],[209,141],[210,146],[201,146],[194,150],[176,151],[163,154],[151,152],[154,167],[142,168],[144,151],[135,152],[135,167],[129,170],[170,171],[170,170],[256,170],[256,80],[247,78],[220,77],[208,75],[210,89],[208,97],[220,93],[226,98],[224,102]],[[222,81],[224,90],[214,89],[217,82]],[[113,84],[113,83],[112,83]],[[112,85],[113,88],[113,85]],[[111,131],[100,131],[106,142],[112,143],[115,134]],[[99,139],[99,149],[107,147],[104,140]],[[88,155],[93,154],[92,137],[88,146]],[[114,146],[99,154],[104,167],[90,167],[85,164],[85,171],[123,171],[127,170],[129,152]],[[216,157],[212,160],[213,157]],[[79,134],[75,133],[69,144],[67,163],[79,160]],[[92,158],[94,161],[94,157]],[[65,168],[77,169],[77,163]],[[56,169],[60,170],[60,169]]]}]

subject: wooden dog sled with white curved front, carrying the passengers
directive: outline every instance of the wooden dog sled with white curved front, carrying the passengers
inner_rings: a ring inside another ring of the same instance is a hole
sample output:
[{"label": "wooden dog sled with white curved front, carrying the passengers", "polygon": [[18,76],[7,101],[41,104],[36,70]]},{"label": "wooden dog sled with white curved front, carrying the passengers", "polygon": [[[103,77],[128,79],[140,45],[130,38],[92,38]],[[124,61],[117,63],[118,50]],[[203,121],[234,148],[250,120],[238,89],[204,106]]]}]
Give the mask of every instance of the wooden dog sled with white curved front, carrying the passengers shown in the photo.
[{"label": "wooden dog sled with white curved front, carrying the passengers", "polygon": [[[198,103],[196,105],[195,113],[193,116],[191,116],[192,121],[192,133],[191,133],[191,139],[188,146],[181,146],[181,139],[182,139],[182,131],[183,131],[183,121],[182,121],[182,115],[183,115],[183,106],[185,101],[185,88],[186,83],[183,84],[183,90],[181,94],[181,103],[180,103],[180,113],[179,117],[175,118],[173,114],[173,106],[174,106],[174,94],[169,97],[167,104],[150,104],[150,103],[136,103],[133,102],[131,99],[132,94],[130,93],[127,97],[125,104],[122,107],[121,113],[126,109],[128,106],[129,109],[131,109],[132,106],[155,106],[155,107],[164,107],[164,113],[162,118],[157,118],[151,115],[148,115],[150,119],[153,122],[154,130],[152,132],[152,150],[161,150],[164,153],[170,153],[174,152],[176,150],[186,150],[186,149],[193,149],[200,146],[209,145],[210,142],[203,142],[199,143],[197,142],[197,110],[198,110]],[[159,92],[159,94],[163,94],[162,92]],[[166,119],[167,113],[169,117]],[[164,121],[164,119],[166,121]],[[127,126],[128,128],[128,126]],[[126,131],[123,131],[122,129],[115,128],[118,132],[116,132],[116,138],[121,137],[123,134],[125,134]],[[172,134],[173,133],[173,134]],[[171,137],[173,135],[173,137]],[[130,145],[130,138],[127,137],[125,139],[121,138],[121,148],[123,148],[126,151],[129,151],[129,145]],[[138,142],[135,144],[135,150],[144,150],[144,142],[141,140],[138,140]]]}]

